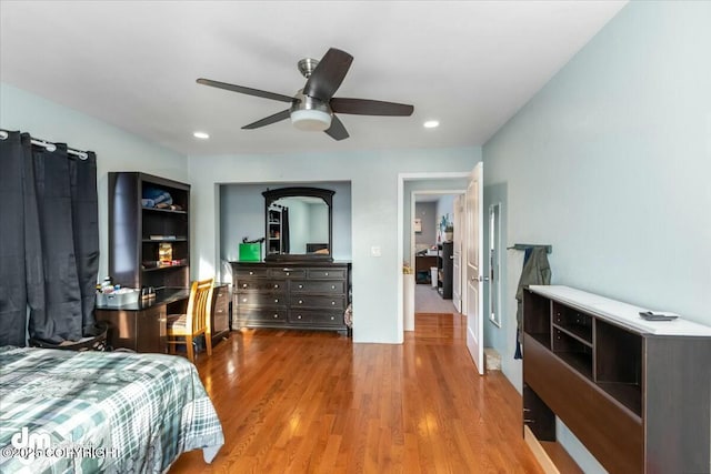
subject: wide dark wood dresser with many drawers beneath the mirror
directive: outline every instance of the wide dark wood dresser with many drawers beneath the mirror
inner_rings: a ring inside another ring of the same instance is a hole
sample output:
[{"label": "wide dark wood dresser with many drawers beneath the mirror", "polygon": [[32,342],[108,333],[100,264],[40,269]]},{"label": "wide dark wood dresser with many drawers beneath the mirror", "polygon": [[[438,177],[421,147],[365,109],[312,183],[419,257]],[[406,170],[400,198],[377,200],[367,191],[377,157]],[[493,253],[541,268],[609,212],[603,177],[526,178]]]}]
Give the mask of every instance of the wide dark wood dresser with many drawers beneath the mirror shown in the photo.
[{"label": "wide dark wood dresser with many drawers beneath the mirror", "polygon": [[350,262],[231,262],[232,326],[348,332]]}]

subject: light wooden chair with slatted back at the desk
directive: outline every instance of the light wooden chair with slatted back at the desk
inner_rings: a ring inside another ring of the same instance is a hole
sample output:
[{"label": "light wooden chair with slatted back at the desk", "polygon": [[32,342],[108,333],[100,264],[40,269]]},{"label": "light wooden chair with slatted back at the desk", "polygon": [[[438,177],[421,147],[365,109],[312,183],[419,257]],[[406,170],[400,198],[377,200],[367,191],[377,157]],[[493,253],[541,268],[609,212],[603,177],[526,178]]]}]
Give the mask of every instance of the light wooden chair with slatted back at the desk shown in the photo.
[{"label": "light wooden chair with slatted back at the desk", "polygon": [[176,345],[186,344],[188,359],[194,363],[192,347],[194,337],[204,334],[208,355],[212,355],[212,327],[210,313],[212,312],[212,290],[214,279],[196,281],[190,288],[188,310],[186,314],[168,315],[167,344],[171,354],[176,353]]}]

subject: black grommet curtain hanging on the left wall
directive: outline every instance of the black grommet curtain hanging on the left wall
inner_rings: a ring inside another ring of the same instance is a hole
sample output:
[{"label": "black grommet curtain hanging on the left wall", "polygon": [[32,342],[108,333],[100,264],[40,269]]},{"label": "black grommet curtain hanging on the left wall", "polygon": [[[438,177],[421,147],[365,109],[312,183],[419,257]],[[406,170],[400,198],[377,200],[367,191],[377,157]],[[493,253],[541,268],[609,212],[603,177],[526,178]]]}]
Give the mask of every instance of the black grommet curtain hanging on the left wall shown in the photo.
[{"label": "black grommet curtain hanging on the left wall", "polygon": [[77,341],[93,325],[99,270],[97,159],[0,140],[0,345]]}]

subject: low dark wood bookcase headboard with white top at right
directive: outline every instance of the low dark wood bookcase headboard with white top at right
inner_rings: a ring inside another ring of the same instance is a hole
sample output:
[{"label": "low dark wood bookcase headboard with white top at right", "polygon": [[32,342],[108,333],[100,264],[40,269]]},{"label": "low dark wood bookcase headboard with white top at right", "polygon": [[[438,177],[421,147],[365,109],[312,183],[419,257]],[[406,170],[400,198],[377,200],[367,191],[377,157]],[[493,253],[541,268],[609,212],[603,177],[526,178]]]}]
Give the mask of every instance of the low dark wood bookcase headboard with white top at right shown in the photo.
[{"label": "low dark wood bookcase headboard with white top at right", "polygon": [[711,327],[567,286],[523,293],[523,421],[555,416],[610,473],[708,472]]}]

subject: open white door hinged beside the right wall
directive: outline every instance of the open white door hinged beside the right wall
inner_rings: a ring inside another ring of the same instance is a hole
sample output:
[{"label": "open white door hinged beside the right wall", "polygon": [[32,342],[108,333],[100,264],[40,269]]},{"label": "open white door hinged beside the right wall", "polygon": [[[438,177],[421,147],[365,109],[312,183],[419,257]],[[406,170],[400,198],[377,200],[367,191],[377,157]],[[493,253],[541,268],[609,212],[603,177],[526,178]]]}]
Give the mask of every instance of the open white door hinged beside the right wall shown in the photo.
[{"label": "open white door hinged beside the right wall", "polygon": [[483,163],[477,164],[467,186],[467,347],[480,374],[484,373],[484,322],[483,322]]}]

